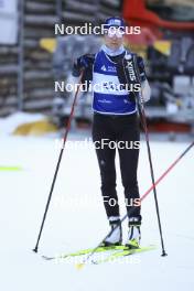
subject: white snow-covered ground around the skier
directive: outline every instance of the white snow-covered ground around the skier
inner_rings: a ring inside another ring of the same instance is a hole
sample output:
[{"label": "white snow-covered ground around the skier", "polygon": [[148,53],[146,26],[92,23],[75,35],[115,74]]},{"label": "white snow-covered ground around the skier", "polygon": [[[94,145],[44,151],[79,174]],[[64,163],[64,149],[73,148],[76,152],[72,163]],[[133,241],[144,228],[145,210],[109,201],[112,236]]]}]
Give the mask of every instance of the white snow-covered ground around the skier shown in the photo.
[{"label": "white snow-covered ground around the skier", "polygon": [[[71,134],[71,139],[84,137]],[[190,142],[152,141],[155,177]],[[142,245],[158,249],[126,262],[87,265],[44,261],[41,254],[95,247],[109,230],[100,200],[99,173],[93,149],[65,150],[40,244],[32,252],[58,157],[55,137],[0,138],[0,290],[3,291],[192,291],[194,290],[194,149],[158,186],[165,248],[162,258],[153,195],[142,204]],[[141,194],[150,186],[147,148],[139,163]],[[122,187],[118,192],[123,205]],[[125,214],[125,207],[121,208]],[[125,224],[125,229],[127,225]],[[134,258],[134,256],[133,256]]]}]

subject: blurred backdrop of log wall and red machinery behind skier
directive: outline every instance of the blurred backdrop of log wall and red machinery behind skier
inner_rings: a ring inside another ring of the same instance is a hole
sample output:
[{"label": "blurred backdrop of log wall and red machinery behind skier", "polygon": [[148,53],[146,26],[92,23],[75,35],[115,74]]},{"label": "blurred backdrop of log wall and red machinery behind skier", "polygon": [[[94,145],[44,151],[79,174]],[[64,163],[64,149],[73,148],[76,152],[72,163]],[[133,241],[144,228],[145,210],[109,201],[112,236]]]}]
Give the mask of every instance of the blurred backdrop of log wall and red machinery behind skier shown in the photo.
[{"label": "blurred backdrop of log wall and red machinery behind skier", "polygon": [[[140,35],[127,35],[126,46],[146,60],[152,87],[147,105],[150,131],[171,138],[194,133],[194,1],[193,0],[0,0],[0,120],[15,133],[63,128],[73,94],[55,93],[54,82],[68,82],[73,61],[95,53],[103,43],[96,35],[54,33],[66,26],[98,25],[120,15]],[[76,106],[76,128],[89,128],[91,94]],[[1,131],[2,131],[1,126]],[[8,131],[9,131],[8,130]]]}]

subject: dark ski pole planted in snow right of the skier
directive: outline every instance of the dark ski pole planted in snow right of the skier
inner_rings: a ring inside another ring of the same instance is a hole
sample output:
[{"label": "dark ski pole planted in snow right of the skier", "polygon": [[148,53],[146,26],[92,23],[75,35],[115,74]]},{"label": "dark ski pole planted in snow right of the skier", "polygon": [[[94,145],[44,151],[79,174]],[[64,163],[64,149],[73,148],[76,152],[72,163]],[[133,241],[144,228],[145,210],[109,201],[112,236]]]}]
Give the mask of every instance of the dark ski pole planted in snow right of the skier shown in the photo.
[{"label": "dark ski pole planted in snow right of the skier", "polygon": [[[134,71],[136,71],[136,76],[137,76],[138,83],[141,84],[140,73],[139,73],[139,67],[138,67],[138,64],[137,64],[137,56],[136,55],[133,56],[133,64],[134,64]],[[147,150],[148,150],[148,159],[149,159],[149,164],[150,164],[151,180],[152,180],[152,184],[154,185],[155,184],[155,180],[154,180],[154,171],[153,171],[152,155],[151,155],[151,149],[150,149],[150,138],[149,138],[149,131],[148,131],[148,126],[147,126],[147,117],[146,117],[146,112],[144,112],[143,97],[142,97],[141,87],[140,87],[139,94],[140,94],[140,96],[138,96],[138,97],[136,95],[136,99],[137,99],[137,104],[138,104],[138,110],[139,110],[141,123],[142,123],[143,131],[144,131],[146,142],[147,142]],[[157,188],[155,187],[153,187],[153,194],[154,194],[157,217],[158,217],[158,224],[159,224],[159,233],[160,233],[160,238],[161,238],[162,257],[164,257],[164,256],[168,256],[168,254],[165,252],[165,248],[164,248],[162,224],[161,224],[159,202],[158,202],[158,195],[157,195]]]}]

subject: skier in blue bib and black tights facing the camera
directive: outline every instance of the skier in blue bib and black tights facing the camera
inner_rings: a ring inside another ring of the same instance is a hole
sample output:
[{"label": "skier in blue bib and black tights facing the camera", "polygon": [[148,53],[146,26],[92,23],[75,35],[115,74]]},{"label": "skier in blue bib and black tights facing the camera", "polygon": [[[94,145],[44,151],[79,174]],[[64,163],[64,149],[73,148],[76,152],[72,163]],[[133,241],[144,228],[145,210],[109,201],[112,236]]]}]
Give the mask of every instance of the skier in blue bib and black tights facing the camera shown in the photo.
[{"label": "skier in blue bib and black tights facing the camera", "polygon": [[[122,241],[116,191],[115,157],[116,149],[118,149],[129,218],[126,245],[130,248],[137,248],[141,238],[141,206],[137,181],[140,130],[134,91],[123,88],[123,84],[126,85],[128,82],[120,64],[127,55],[134,55],[123,47],[123,32],[125,22],[121,18],[107,19],[105,22],[105,44],[95,55],[86,54],[78,57],[74,64],[73,75],[78,77],[84,69],[82,82],[93,80],[93,141],[96,146],[106,214],[111,228],[117,226],[111,235],[104,240],[103,245],[120,245]],[[142,97],[144,101],[148,101],[150,87],[146,77],[142,57],[137,56],[137,64],[140,73]],[[116,143],[117,148],[114,147]],[[133,207],[132,213],[131,207]]]}]

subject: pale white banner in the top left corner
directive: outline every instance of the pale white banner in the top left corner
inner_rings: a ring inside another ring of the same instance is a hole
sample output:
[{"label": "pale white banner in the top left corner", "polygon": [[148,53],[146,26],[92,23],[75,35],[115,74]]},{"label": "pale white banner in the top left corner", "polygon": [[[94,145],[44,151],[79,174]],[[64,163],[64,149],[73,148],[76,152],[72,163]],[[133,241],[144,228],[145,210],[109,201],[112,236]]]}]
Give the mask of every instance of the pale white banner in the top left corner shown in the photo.
[{"label": "pale white banner in the top left corner", "polygon": [[18,0],[0,0],[0,44],[18,42]]}]

